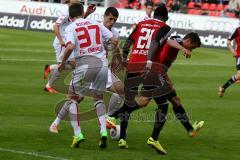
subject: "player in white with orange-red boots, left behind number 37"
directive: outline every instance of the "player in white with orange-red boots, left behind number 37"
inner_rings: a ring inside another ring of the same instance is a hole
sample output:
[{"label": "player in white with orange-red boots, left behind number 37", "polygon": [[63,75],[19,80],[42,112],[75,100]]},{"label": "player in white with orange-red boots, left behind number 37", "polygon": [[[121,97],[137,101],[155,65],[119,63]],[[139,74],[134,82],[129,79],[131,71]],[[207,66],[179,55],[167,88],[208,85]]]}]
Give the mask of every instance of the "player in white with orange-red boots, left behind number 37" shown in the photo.
[{"label": "player in white with orange-red boots, left behind number 37", "polygon": [[[78,3],[78,0],[70,0],[67,1],[68,5],[72,5],[74,3]],[[84,17],[87,17],[89,14],[93,13],[96,10],[95,5],[89,5]],[[66,27],[72,23],[71,18],[68,16],[68,13],[64,13],[60,17],[58,17],[57,21],[53,25],[53,31],[56,34],[56,37],[53,42],[53,47],[56,53],[56,61],[57,64],[46,65],[44,70],[44,79],[47,79],[48,74],[51,73],[48,83],[46,84],[44,90],[50,93],[58,93],[53,88],[53,83],[57,79],[57,76],[60,74],[58,71],[58,64],[62,62],[62,56],[65,50],[65,29]],[[65,66],[65,69],[73,69],[75,66],[75,62],[73,56],[70,56],[68,59],[68,63]]]}]

